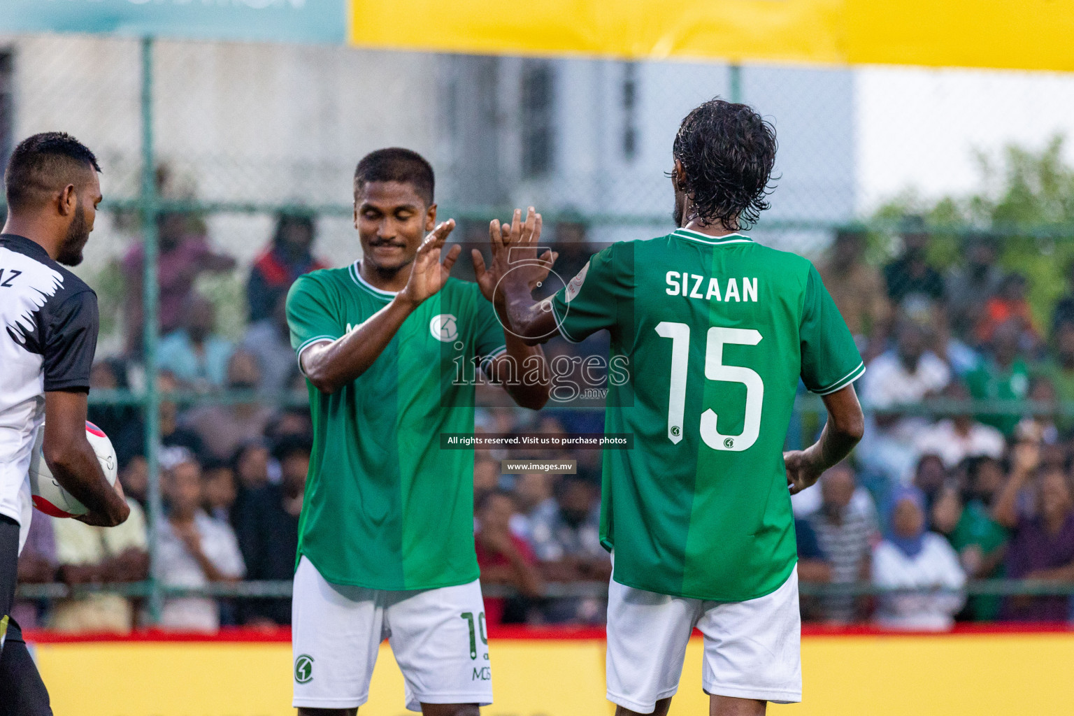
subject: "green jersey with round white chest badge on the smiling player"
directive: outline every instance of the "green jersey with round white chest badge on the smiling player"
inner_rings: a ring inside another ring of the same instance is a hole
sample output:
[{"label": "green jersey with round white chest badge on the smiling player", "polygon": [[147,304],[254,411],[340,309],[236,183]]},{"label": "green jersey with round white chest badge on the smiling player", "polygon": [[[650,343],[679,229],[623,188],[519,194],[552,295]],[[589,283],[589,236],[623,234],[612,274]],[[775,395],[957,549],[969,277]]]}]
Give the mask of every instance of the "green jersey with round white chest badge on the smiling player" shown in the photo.
[{"label": "green jersey with round white chest badge on the smiling player", "polygon": [[[301,355],[339,338],[393,295],[364,281],[357,263],[307,274],[287,298],[291,345]],[[299,555],[324,579],[429,589],[478,578],[474,451],[440,450],[439,434],[474,432],[473,377],[504,350],[477,283],[449,278],[364,374],[331,395],[309,384]]]}]

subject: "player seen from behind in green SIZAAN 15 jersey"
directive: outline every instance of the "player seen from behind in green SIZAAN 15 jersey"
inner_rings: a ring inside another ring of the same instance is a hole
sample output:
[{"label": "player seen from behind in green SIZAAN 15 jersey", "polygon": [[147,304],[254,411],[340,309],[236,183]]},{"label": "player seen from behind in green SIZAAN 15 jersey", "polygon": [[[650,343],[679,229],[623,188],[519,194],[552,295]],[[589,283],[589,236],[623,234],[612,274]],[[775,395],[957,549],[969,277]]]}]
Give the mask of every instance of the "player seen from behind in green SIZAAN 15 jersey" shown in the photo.
[{"label": "player seen from behind in green SIZAAN 15 jersey", "polygon": [[[705,634],[711,713],[764,714],[801,700],[800,617],[788,493],[816,482],[861,437],[852,383],[865,365],[812,264],[742,229],[768,207],[775,132],[715,99],[682,121],[667,236],[613,244],[553,297],[527,275],[540,217],[490,227],[494,296],[532,341],[607,330],[629,378],[611,384],[601,540],[612,551],[608,699],[666,714],[694,627]],[[512,251],[510,259],[508,251]],[[514,271],[510,271],[514,268]],[[799,378],[823,396],[816,444],[783,453]],[[788,491],[789,486],[789,491]]]}]

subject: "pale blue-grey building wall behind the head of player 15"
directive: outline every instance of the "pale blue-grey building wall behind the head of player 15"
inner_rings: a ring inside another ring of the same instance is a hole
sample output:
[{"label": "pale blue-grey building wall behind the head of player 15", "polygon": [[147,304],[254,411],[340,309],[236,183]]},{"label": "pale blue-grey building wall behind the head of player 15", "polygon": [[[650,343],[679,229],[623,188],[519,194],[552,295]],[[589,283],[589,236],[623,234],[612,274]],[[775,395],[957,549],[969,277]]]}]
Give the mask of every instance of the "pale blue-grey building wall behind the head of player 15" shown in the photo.
[{"label": "pale blue-grey building wall behind the head of player 15", "polygon": [[[730,93],[729,71],[714,63],[504,58],[497,68],[499,169],[509,203],[547,211],[633,217],[594,225],[599,239],[651,236],[670,225],[671,144],[682,118],[700,102]],[[552,161],[527,176],[527,72],[553,76]],[[628,86],[633,85],[633,90]],[[746,67],[742,101],[777,127],[780,141],[772,208],[758,236],[781,247],[815,251],[830,232],[787,228],[844,221],[855,208],[854,83],[850,71]],[[627,100],[632,96],[632,100]],[[492,126],[489,127],[490,131]],[[633,150],[626,134],[633,134]],[[476,158],[456,158],[459,162]],[[488,173],[488,171],[487,171]],[[765,227],[781,229],[766,230]]]}]

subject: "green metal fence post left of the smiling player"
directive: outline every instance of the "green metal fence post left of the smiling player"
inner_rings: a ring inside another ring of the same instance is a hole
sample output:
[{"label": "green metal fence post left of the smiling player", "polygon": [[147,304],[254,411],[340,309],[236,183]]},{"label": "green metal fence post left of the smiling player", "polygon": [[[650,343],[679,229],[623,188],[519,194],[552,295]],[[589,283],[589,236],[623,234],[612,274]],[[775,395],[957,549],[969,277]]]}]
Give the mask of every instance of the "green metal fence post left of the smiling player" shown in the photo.
[{"label": "green metal fence post left of the smiling player", "polygon": [[157,264],[157,173],[153,134],[153,38],[142,39],[142,188],[139,204],[142,214],[143,278],[142,320],[145,360],[145,459],[149,473],[149,618],[160,620],[162,595],[156,575],[157,529],[163,518],[160,497],[160,393],[157,386],[157,316],[159,287]]}]

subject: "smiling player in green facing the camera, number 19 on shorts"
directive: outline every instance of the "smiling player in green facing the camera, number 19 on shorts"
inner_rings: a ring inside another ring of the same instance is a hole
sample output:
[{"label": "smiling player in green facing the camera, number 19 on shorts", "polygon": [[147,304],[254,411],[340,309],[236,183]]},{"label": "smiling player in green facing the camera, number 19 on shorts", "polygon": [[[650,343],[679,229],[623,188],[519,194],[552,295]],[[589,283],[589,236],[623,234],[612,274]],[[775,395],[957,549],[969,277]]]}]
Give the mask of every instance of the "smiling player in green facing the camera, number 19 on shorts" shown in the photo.
[{"label": "smiling player in green facing the camera, number 19 on shorts", "polygon": [[[305,716],[354,714],[384,638],[407,708],[475,716],[492,702],[474,450],[441,450],[440,434],[474,432],[474,381],[460,371],[483,370],[534,409],[550,379],[539,347],[505,338],[491,276],[449,276],[461,249],[441,262],[454,221],[436,224],[433,192],[420,155],[367,155],[354,172],[362,259],[299,278],[288,296],[314,420],[292,609]],[[519,370],[533,380],[509,380]]]}]

